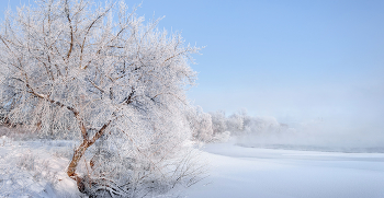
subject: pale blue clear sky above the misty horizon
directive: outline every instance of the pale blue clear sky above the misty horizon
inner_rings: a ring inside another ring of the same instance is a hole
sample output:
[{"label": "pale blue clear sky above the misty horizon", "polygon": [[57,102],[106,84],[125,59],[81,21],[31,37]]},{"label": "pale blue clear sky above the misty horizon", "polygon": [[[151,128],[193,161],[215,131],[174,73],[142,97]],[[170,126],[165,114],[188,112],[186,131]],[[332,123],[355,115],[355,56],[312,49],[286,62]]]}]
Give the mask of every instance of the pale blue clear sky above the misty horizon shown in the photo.
[{"label": "pale blue clear sky above the misty horizon", "polygon": [[205,112],[384,132],[384,1],[144,0],[137,13],[206,46],[188,93]]}]

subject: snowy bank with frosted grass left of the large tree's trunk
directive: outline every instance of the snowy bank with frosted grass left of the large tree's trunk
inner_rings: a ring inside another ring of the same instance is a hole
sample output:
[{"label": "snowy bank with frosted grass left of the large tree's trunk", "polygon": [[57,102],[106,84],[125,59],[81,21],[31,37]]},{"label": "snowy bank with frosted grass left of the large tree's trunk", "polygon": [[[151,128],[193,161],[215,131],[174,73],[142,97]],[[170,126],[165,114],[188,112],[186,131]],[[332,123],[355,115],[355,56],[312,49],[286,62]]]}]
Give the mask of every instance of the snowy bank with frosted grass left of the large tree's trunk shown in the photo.
[{"label": "snowy bank with frosted grass left of the large tree's trunk", "polygon": [[70,150],[66,141],[12,141],[0,137],[0,198],[80,197],[65,168]]}]

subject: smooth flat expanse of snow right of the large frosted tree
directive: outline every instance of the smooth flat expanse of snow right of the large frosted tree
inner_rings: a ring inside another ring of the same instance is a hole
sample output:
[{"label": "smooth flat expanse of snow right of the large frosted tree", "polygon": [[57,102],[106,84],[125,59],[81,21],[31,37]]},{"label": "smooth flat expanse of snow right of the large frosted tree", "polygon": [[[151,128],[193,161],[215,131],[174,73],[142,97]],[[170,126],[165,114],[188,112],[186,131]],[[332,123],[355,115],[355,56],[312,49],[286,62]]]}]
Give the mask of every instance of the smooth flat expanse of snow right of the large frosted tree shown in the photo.
[{"label": "smooth flat expanse of snow right of the large frosted tree", "polygon": [[384,153],[340,153],[208,144],[211,176],[188,197],[383,198]]}]

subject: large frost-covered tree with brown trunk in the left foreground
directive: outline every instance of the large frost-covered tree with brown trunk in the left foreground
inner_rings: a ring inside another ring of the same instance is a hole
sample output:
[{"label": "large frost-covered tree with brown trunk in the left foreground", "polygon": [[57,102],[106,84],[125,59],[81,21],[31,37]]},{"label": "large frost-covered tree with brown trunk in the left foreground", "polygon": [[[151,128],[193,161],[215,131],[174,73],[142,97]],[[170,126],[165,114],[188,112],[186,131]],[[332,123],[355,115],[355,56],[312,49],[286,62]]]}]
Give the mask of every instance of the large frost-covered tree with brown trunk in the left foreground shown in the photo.
[{"label": "large frost-covered tree with brown trunk in the left foreground", "polygon": [[67,174],[82,191],[127,196],[138,185],[153,189],[196,173],[177,151],[190,138],[184,90],[194,82],[189,63],[199,48],[158,31],[158,21],[144,24],[123,2],[91,0],[36,0],[5,13],[0,93],[7,117],[41,136],[78,139]]}]

